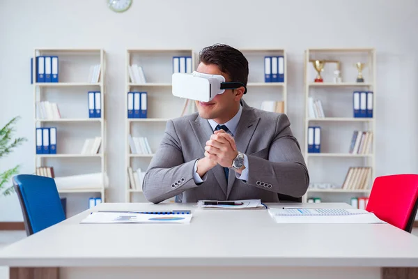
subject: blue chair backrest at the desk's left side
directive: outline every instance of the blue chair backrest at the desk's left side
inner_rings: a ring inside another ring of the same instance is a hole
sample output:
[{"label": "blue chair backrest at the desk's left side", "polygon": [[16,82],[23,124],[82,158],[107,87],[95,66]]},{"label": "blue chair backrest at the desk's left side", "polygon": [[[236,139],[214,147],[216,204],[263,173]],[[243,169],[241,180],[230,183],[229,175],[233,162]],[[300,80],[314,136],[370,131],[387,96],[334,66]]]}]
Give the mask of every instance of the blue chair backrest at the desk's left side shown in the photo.
[{"label": "blue chair backrest at the desk's left side", "polygon": [[36,234],[65,220],[54,179],[19,174],[13,177],[13,184],[22,207],[26,234]]}]

